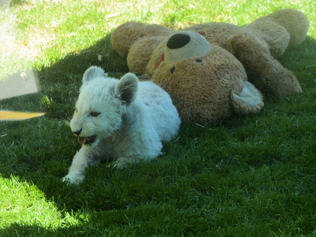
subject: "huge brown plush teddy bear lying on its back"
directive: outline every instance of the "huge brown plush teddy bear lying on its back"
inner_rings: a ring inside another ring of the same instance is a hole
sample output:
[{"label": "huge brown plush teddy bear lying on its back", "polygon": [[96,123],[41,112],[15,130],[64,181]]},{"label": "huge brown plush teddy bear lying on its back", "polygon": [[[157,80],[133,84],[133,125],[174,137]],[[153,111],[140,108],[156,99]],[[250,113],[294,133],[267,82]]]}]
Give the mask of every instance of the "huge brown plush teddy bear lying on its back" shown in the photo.
[{"label": "huge brown plush teddy bear lying on its back", "polygon": [[176,32],[127,22],[113,31],[111,42],[130,71],[148,74],[170,94],[182,121],[217,124],[233,111],[258,112],[260,92],[301,92],[275,58],[303,42],[308,27],[303,13],[282,9],[246,26],[210,22]]}]

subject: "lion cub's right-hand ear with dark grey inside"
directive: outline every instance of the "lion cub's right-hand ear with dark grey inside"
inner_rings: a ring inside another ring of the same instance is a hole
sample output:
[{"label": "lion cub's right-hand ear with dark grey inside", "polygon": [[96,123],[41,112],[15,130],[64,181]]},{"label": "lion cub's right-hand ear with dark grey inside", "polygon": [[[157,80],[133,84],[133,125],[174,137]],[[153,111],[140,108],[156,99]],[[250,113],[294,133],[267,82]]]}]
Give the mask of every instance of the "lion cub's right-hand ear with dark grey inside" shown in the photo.
[{"label": "lion cub's right-hand ear with dark grey inside", "polygon": [[115,87],[115,93],[127,105],[131,104],[137,93],[138,79],[133,73],[125,74]]}]

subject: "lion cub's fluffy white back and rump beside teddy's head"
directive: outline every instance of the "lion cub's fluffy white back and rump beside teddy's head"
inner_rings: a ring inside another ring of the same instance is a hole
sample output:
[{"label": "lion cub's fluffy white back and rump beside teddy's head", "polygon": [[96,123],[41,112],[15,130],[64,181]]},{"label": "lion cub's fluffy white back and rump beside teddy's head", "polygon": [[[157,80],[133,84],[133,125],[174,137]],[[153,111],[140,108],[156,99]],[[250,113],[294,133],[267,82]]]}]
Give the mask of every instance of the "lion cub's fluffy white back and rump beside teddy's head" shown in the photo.
[{"label": "lion cub's fluffy white back and rump beside teddy's head", "polygon": [[153,82],[138,83],[139,99],[146,105],[160,140],[173,139],[180,126],[180,118],[169,94]]}]

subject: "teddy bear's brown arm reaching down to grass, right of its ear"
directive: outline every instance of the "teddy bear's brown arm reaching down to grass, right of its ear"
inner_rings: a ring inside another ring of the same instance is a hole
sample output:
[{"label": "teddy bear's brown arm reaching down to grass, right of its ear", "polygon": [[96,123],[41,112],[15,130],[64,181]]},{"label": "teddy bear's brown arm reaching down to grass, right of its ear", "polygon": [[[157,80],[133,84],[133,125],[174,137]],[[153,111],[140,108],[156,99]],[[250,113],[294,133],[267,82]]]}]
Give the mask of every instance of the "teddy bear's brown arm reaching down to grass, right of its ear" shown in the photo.
[{"label": "teddy bear's brown arm reaching down to grass, right of its ear", "polygon": [[263,39],[253,35],[235,34],[226,47],[245,67],[252,82],[261,92],[288,96],[301,92],[301,86],[293,73],[274,59]]}]

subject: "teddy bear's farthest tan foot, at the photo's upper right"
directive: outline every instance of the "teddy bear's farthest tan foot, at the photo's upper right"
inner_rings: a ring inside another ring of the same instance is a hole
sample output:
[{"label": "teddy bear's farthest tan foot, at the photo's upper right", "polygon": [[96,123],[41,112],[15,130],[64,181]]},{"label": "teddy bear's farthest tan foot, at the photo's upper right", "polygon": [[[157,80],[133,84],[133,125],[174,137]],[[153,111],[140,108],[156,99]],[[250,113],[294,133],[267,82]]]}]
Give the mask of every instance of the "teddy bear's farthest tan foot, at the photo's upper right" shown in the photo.
[{"label": "teddy bear's farthest tan foot, at the photo's upper right", "polygon": [[253,23],[257,22],[256,24],[258,24],[262,21],[272,21],[283,26],[289,32],[289,49],[297,47],[305,40],[309,27],[307,16],[295,9],[281,9],[267,16],[260,17]]}]

